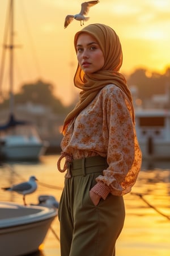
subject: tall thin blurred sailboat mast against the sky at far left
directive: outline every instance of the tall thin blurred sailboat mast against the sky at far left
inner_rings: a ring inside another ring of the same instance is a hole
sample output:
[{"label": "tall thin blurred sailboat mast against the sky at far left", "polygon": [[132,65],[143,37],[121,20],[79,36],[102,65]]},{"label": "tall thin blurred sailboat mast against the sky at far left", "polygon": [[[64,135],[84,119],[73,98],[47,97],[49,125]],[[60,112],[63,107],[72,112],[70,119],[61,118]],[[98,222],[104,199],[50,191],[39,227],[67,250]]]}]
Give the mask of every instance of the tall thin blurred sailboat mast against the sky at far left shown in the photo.
[{"label": "tall thin blurred sailboat mast against the sky at far left", "polygon": [[10,114],[14,114],[14,0],[10,0]]}]

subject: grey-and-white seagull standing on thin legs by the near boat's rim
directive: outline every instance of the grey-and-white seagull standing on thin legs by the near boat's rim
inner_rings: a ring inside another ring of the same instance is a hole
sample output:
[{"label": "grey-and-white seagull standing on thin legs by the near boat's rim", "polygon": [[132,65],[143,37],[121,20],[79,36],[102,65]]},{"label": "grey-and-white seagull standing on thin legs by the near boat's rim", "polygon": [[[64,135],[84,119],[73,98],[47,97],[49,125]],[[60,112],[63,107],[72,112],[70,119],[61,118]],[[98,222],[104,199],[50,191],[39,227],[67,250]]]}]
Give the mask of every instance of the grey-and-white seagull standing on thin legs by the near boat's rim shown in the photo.
[{"label": "grey-and-white seagull standing on thin legs by the near boat's rim", "polygon": [[24,205],[27,205],[25,203],[25,195],[31,194],[36,191],[36,189],[37,189],[36,180],[37,179],[35,176],[31,176],[31,177],[29,177],[29,180],[27,182],[19,183],[16,185],[12,185],[12,187],[2,188],[2,189],[5,191],[14,191],[19,194],[22,194]]}]

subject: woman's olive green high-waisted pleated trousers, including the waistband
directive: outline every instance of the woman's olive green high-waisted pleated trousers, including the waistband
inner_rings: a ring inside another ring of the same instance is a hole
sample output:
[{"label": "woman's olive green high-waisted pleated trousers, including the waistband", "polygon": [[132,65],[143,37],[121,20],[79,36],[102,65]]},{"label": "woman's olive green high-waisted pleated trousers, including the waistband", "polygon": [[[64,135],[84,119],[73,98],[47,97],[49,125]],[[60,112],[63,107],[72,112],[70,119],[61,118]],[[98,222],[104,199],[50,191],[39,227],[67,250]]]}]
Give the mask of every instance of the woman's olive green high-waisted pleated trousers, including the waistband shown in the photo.
[{"label": "woman's olive green high-waisted pleated trousers, including the waistband", "polygon": [[114,256],[124,226],[124,199],[109,194],[97,206],[92,203],[89,191],[106,166],[104,158],[86,159],[74,160],[71,178],[65,178],[58,209],[61,256]]}]

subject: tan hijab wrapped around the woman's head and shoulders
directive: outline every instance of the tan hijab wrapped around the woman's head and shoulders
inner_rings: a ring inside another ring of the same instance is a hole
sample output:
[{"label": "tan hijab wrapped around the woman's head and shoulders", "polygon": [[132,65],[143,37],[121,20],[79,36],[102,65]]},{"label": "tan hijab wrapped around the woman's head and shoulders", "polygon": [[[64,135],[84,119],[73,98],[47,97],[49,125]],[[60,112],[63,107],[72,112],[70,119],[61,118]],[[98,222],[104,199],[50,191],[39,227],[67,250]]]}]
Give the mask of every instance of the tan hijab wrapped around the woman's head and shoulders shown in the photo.
[{"label": "tan hijab wrapped around the woman's head and shoulders", "polygon": [[[122,65],[122,48],[120,40],[111,27],[104,24],[90,24],[78,31],[74,37],[74,47],[76,51],[76,43],[78,36],[86,32],[93,36],[104,54],[104,66],[95,73],[85,74],[80,68],[79,64],[74,76],[74,85],[82,91],[79,94],[79,102],[75,108],[67,115],[63,125],[63,134],[65,134],[66,127],[69,122],[76,117],[92,100],[94,100],[97,93],[108,84],[114,84],[120,88],[129,98],[133,109],[132,98],[130,90],[126,85],[125,77],[119,72]],[[134,122],[134,110],[133,110]]]}]

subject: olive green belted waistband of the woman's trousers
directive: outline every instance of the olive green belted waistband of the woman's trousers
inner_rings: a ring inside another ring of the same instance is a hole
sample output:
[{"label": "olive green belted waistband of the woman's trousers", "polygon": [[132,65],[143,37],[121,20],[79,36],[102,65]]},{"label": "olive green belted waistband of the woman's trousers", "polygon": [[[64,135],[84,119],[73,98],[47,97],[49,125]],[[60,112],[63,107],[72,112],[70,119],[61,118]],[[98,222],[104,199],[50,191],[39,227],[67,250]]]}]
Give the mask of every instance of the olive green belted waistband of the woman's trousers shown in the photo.
[{"label": "olive green belted waistband of the woman's trousers", "polygon": [[107,159],[102,156],[90,156],[89,158],[75,159],[68,163],[71,176],[79,176],[101,172],[108,167]]}]

